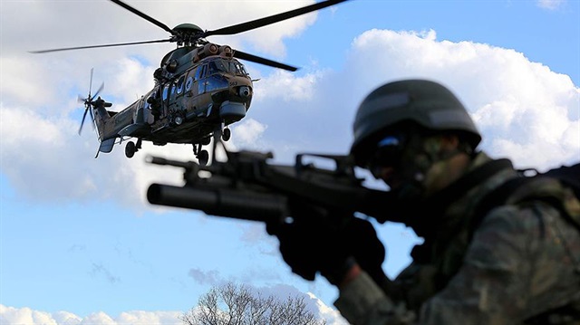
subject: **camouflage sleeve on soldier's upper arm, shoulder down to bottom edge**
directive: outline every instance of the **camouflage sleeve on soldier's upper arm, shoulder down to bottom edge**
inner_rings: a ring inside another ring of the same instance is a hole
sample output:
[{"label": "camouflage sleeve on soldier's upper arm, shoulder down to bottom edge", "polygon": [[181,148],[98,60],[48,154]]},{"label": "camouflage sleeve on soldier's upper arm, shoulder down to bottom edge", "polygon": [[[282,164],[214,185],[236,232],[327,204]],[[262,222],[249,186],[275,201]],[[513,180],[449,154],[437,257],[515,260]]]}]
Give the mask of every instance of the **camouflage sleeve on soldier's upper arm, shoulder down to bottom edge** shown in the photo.
[{"label": "camouflage sleeve on soldier's upper arm, shoulder down to bottom edge", "polygon": [[530,311],[529,299],[535,265],[542,264],[537,260],[546,258],[541,254],[545,227],[537,208],[492,210],[474,234],[458,274],[421,307],[420,322],[514,324],[537,312]]}]

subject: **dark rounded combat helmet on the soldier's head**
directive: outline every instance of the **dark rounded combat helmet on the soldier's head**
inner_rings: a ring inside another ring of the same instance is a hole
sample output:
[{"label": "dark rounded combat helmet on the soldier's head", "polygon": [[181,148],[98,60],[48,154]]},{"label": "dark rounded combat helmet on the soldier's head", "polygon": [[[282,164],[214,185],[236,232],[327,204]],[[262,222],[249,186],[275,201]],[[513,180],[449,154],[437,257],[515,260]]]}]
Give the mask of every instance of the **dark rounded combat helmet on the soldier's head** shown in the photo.
[{"label": "dark rounded combat helmet on the soldier's head", "polygon": [[471,148],[481,141],[467,110],[447,88],[434,81],[394,81],[372,91],[356,112],[351,147],[356,164],[364,166],[373,141],[407,121],[430,131],[455,131]]}]

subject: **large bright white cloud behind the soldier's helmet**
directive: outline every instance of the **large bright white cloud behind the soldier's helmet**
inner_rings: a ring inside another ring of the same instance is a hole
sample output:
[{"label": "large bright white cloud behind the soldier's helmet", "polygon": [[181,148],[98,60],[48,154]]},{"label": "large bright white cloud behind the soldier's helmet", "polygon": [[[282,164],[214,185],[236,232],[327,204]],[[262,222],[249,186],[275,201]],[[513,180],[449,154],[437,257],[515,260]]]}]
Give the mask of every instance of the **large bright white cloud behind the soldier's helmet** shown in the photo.
[{"label": "large bright white cloud behind the soldier's helmet", "polygon": [[[277,119],[292,116],[299,123],[274,127],[273,118],[266,122],[268,130],[307,130],[305,146],[336,144],[347,150],[354,110],[368,92],[384,82],[422,78],[440,81],[458,95],[483,134],[481,148],[495,157],[512,158],[518,167],[547,168],[580,156],[580,89],[569,76],[530,62],[523,53],[440,41],[432,30],[371,30],[353,41],[349,53],[344,71],[325,73],[313,83],[316,96],[304,104],[308,114],[296,109],[285,114],[288,106],[265,100],[276,108]],[[300,133],[293,134],[296,140]]]}]

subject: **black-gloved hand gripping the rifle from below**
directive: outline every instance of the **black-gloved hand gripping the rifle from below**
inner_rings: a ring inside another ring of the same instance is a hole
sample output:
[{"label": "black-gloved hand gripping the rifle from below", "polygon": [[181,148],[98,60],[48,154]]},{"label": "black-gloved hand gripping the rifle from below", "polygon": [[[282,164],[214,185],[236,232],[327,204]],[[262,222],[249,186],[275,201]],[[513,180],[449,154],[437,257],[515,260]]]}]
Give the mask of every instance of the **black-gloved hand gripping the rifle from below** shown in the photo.
[{"label": "black-gloved hand gripping the rifle from below", "polygon": [[386,279],[382,272],[385,249],[371,223],[354,216],[325,215],[313,206],[293,209],[291,224],[268,225],[268,234],[280,241],[280,253],[292,272],[313,281],[321,272],[329,282],[341,282],[359,263],[375,282]]}]

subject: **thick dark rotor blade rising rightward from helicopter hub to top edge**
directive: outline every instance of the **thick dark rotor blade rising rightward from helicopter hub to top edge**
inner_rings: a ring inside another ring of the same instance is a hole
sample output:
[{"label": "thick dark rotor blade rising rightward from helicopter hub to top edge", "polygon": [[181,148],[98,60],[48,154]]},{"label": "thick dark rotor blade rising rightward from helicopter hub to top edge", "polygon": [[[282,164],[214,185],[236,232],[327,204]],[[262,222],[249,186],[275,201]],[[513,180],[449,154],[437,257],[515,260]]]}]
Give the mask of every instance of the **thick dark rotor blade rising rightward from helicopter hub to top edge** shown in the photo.
[{"label": "thick dark rotor blade rising rightward from helicopter hub to top edge", "polygon": [[316,3],[314,5],[306,5],[302,8],[287,11],[287,12],[282,13],[282,14],[274,14],[274,15],[267,16],[267,17],[260,18],[260,19],[256,19],[256,20],[253,20],[253,21],[250,21],[247,23],[234,24],[234,25],[231,25],[228,27],[217,29],[215,31],[206,31],[205,33],[203,33],[203,37],[207,37],[209,35],[232,35],[235,33],[247,32],[249,30],[263,27],[263,26],[266,26],[268,24],[275,24],[275,23],[281,22],[283,20],[290,19],[290,18],[293,18],[295,16],[301,15],[301,14],[308,14],[308,13],[311,13],[313,11],[323,9],[327,6],[340,4],[344,1],[347,1],[347,0],[327,0],[327,1]]}]

